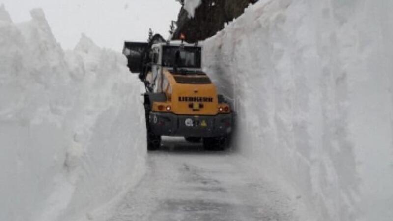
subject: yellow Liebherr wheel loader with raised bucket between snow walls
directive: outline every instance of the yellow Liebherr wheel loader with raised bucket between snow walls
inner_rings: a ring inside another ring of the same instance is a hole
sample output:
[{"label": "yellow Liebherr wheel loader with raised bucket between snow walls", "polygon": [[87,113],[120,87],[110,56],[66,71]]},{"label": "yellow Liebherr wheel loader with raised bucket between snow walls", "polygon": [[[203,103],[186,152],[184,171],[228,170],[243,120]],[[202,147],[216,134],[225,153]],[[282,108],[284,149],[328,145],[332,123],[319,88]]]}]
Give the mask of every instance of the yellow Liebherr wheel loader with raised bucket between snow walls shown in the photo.
[{"label": "yellow Liebherr wheel loader with raised bucket between snow walls", "polygon": [[147,149],[160,147],[161,136],[184,136],[208,150],[222,150],[232,132],[232,111],[224,96],[201,69],[202,47],[165,41],[124,44],[128,68],[145,84]]}]

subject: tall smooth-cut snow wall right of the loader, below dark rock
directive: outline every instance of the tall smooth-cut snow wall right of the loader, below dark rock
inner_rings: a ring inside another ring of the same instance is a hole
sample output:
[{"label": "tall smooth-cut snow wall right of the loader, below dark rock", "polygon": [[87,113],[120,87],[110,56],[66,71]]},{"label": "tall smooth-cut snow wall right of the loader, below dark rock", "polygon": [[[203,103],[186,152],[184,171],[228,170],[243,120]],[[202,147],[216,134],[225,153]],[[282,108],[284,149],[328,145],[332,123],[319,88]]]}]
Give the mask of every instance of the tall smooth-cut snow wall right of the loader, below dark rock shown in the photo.
[{"label": "tall smooth-cut snow wall right of the loader, below dark rock", "polygon": [[[234,147],[318,221],[393,217],[393,2],[260,0],[205,41]],[[280,177],[281,176],[281,177]]]}]

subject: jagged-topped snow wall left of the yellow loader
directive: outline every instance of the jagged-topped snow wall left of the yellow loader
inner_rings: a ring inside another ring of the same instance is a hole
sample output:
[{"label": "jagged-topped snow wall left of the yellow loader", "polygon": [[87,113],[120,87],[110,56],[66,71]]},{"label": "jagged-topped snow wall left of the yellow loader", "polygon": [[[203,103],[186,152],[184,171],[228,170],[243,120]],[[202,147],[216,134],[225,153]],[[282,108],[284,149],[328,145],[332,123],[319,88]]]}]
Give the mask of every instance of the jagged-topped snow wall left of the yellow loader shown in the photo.
[{"label": "jagged-topped snow wall left of the yellow loader", "polygon": [[0,8],[0,220],[94,219],[144,171],[140,82],[86,36],[64,52],[42,10]]}]

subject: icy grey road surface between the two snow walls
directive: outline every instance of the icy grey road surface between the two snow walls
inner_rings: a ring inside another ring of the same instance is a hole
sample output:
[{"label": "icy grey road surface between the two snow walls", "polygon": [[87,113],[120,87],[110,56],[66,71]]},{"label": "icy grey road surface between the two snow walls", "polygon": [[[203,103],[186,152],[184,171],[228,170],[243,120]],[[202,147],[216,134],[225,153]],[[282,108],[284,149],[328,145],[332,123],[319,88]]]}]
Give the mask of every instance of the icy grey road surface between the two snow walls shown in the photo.
[{"label": "icy grey road surface between the two snow walls", "polygon": [[236,154],[182,138],[148,154],[145,177],[107,221],[296,221],[293,202]]}]

